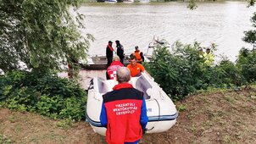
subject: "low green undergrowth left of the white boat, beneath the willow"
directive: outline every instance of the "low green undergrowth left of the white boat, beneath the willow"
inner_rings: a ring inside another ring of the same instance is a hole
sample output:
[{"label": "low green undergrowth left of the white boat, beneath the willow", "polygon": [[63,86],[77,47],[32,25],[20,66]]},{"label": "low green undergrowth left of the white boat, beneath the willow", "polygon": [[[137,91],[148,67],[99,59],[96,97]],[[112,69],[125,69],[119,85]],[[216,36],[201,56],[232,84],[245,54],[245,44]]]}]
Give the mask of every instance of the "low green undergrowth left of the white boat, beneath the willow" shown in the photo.
[{"label": "low green undergrowth left of the white boat, beneath the willow", "polygon": [[53,119],[84,119],[86,93],[56,75],[14,71],[0,77],[0,102]]}]

